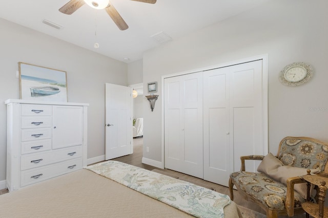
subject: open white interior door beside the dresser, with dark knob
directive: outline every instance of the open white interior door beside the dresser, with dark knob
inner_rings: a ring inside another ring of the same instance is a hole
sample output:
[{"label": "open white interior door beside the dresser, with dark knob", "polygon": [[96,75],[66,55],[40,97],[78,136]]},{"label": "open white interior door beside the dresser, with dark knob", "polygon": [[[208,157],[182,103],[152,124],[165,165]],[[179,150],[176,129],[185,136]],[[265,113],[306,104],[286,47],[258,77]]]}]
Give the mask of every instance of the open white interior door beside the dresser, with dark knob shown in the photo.
[{"label": "open white interior door beside the dresser, with dark knob", "polygon": [[106,83],[105,159],[132,153],[132,89]]}]

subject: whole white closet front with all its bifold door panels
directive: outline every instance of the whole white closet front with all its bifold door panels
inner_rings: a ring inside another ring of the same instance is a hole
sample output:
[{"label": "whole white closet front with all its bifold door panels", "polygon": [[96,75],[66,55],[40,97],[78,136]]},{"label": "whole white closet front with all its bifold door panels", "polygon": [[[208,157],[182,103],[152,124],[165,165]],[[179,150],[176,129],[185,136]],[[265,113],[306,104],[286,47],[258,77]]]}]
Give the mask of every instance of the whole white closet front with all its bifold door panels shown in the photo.
[{"label": "whole white closet front with all its bifold door panels", "polygon": [[264,154],[262,72],[256,60],[165,78],[165,168],[228,186],[240,156]]}]

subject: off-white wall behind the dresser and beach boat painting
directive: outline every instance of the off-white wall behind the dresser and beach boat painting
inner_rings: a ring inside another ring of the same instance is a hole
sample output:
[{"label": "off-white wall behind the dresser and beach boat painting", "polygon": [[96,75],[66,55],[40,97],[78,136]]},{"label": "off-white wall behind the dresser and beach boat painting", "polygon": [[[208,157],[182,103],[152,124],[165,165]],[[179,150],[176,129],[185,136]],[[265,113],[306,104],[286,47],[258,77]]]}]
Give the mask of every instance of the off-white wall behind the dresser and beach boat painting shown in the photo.
[{"label": "off-white wall behind the dresser and beach boat painting", "polygon": [[[0,102],[19,98],[17,62],[67,72],[68,101],[89,103],[88,159],[105,155],[105,82],[128,85],[128,66],[0,19]],[[6,179],[7,108],[0,104],[0,182]]]}]

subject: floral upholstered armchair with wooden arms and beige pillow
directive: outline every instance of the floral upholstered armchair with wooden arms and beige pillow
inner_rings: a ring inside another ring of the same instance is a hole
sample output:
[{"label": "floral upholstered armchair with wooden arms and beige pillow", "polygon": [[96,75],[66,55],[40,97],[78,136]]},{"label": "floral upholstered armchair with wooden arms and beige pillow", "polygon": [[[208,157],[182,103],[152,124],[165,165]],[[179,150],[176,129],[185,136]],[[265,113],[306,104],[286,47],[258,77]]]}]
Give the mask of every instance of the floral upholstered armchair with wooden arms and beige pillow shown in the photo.
[{"label": "floral upholstered armchair with wooden arms and beige pillow", "polygon": [[[328,144],[308,137],[286,137],[281,140],[278,155],[242,156],[241,169],[230,175],[230,198],[234,199],[233,186],[248,201],[267,212],[267,217],[293,216],[304,213],[306,182],[302,179],[307,169],[311,173],[327,173]],[[258,172],[245,171],[245,161],[261,160]],[[311,187],[312,201],[317,199]]]}]

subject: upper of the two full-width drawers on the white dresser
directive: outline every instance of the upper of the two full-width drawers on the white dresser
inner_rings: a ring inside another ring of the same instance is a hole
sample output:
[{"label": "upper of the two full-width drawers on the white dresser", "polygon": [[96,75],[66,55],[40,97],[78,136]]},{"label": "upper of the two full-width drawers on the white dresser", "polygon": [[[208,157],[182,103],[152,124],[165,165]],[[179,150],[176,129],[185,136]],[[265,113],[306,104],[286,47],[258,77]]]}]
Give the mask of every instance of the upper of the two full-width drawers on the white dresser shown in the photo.
[{"label": "upper of the two full-width drawers on the white dresser", "polygon": [[56,151],[39,152],[38,154],[22,155],[20,170],[31,169],[60,161],[82,157],[82,146],[58,149]]}]

